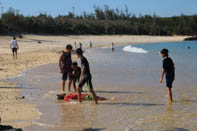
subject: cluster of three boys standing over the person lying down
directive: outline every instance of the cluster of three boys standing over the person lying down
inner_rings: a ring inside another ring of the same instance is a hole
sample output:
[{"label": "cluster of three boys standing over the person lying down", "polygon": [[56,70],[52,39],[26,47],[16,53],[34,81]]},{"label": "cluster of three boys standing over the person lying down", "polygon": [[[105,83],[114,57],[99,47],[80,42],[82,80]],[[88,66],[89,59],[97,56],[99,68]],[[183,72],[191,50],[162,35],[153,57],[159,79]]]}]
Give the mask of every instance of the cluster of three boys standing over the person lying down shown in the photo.
[{"label": "cluster of three boys standing over the person lying down", "polygon": [[[92,75],[90,73],[90,67],[88,60],[83,56],[83,50],[78,48],[76,50],[77,57],[81,60],[81,68],[78,67],[76,62],[72,63],[71,58],[72,46],[67,45],[65,50],[60,56],[59,59],[59,69],[62,73],[62,91],[65,92],[65,83],[66,80],[69,80],[68,91],[70,91],[71,85],[73,83],[74,89],[78,94],[78,101],[81,103],[81,92],[82,87],[87,84],[93,100],[95,103],[98,103],[96,93],[94,92],[92,85]],[[76,82],[79,82],[79,85],[76,86]]]}]

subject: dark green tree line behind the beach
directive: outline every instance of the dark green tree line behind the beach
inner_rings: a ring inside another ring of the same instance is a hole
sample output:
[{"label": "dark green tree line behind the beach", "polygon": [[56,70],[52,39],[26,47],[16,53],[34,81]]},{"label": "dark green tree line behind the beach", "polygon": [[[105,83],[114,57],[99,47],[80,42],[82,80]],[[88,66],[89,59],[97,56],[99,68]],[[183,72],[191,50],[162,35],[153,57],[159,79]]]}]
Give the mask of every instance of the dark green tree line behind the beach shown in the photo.
[{"label": "dark green tree line behind the beach", "polygon": [[130,35],[197,35],[197,15],[159,17],[158,15],[136,16],[125,10],[95,7],[93,13],[52,17],[41,13],[24,16],[10,8],[0,19],[0,34],[130,34]]}]

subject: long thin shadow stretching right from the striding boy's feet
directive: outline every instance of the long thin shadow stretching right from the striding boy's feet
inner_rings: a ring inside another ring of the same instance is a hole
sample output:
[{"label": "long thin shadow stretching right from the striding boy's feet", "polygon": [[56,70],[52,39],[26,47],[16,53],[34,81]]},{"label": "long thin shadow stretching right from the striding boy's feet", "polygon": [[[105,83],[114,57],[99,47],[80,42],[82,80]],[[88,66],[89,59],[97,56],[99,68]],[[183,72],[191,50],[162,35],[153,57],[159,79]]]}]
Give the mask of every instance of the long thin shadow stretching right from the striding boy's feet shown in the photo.
[{"label": "long thin shadow stretching right from the striding boy's feet", "polygon": [[101,103],[103,105],[119,105],[119,106],[164,106],[164,104],[152,104],[152,103],[128,103],[128,102],[119,102],[119,103]]}]

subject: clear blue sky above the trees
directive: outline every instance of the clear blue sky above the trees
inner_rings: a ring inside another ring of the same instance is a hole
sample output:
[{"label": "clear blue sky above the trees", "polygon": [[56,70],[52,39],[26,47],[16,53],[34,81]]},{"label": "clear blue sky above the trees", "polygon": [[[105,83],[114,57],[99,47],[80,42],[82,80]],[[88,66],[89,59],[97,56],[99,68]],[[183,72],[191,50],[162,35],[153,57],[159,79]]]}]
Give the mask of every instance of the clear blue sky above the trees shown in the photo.
[{"label": "clear blue sky above the trees", "polygon": [[197,0],[0,0],[3,11],[10,7],[20,13],[31,16],[47,13],[52,16],[68,14],[73,10],[77,15],[83,12],[93,13],[94,7],[125,9],[138,15],[157,14],[161,17],[178,16],[181,14],[197,14]]}]

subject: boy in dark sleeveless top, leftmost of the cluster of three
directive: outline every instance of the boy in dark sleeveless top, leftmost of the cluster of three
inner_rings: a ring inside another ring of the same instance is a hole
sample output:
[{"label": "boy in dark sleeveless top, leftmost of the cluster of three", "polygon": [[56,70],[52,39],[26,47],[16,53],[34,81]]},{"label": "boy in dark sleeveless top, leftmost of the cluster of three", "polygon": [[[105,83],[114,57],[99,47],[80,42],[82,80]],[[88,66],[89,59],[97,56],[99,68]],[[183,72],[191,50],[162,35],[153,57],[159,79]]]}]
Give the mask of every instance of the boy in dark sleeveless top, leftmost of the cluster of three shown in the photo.
[{"label": "boy in dark sleeveless top, leftmost of the cluster of three", "polygon": [[[65,50],[60,56],[59,59],[59,70],[60,73],[62,73],[62,91],[65,92],[65,83],[68,77],[72,75],[71,65],[72,65],[72,59],[71,59],[71,52],[72,52],[72,46],[67,45]],[[68,89],[70,89],[72,84],[72,81],[69,80]]]}]

